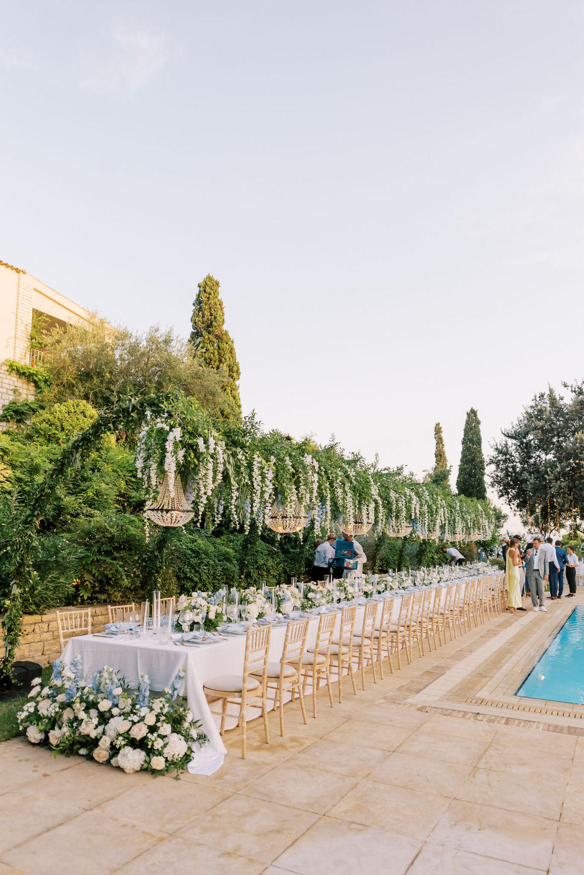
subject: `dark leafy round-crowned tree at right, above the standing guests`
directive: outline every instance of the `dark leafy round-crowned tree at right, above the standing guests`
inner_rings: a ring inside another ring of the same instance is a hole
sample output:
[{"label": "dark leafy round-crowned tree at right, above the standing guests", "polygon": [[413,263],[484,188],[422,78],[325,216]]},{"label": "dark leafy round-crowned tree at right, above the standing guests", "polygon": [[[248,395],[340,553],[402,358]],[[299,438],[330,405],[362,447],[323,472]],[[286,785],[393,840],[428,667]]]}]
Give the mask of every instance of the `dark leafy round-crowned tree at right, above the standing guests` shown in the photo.
[{"label": "dark leafy round-crowned tree at right, above the standing guests", "polygon": [[552,388],[503,430],[489,458],[491,482],[524,523],[544,533],[584,517],[584,383]]}]

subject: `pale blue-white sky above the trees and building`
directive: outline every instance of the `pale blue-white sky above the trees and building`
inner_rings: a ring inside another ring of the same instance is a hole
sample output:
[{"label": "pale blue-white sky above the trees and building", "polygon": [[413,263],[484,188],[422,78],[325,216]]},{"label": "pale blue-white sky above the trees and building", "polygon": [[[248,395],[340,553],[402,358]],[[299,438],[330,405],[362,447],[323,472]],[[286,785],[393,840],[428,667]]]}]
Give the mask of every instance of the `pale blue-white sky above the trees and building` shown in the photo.
[{"label": "pale blue-white sky above the trees and building", "polygon": [[455,477],[582,377],[584,3],[0,12],[0,258],[185,336],[213,274],[266,427]]}]

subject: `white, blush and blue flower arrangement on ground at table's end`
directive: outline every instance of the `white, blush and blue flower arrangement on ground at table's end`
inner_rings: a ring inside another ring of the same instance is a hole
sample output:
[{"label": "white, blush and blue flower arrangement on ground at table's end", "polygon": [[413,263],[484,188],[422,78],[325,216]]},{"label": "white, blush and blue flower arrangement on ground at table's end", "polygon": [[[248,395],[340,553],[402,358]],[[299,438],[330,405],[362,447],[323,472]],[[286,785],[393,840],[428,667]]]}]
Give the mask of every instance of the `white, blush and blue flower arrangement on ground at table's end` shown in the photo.
[{"label": "white, blush and blue flower arrangement on ground at table's end", "polygon": [[162,697],[151,700],[146,675],[132,695],[114,669],[106,666],[89,682],[81,676],[79,656],[68,668],[56,660],[46,686],[40,678],[33,682],[18,726],[33,745],[55,753],[77,753],[127,774],[179,774],[208,740],[179,697],[184,674],[181,669]]}]

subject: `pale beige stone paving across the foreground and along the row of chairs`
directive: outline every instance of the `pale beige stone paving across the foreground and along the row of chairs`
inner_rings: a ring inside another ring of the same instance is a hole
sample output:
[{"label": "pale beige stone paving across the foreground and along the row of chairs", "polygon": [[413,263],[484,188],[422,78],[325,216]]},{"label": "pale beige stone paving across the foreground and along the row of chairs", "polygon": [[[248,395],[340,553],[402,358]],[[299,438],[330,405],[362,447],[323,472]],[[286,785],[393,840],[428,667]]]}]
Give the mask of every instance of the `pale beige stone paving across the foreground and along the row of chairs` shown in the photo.
[{"label": "pale beige stone paving across the foreground and along the row of chairs", "polygon": [[333,709],[321,690],[307,726],[289,704],[285,738],[275,715],[270,746],[254,724],[246,760],[228,734],[211,777],[125,775],[4,742],[0,875],[582,875],[584,737],[392,701],[525,616],[376,684],[369,672]]}]

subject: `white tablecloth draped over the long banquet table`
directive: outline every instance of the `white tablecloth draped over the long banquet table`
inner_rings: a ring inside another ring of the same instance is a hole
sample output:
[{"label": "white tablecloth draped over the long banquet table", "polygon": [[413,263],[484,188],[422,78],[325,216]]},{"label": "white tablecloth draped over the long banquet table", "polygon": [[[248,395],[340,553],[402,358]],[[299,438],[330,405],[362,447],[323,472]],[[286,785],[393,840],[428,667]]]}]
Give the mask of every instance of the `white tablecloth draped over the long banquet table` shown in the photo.
[{"label": "white tablecloth draped over the long banquet table", "polygon": [[[448,583],[466,583],[471,577]],[[433,584],[433,588],[441,589],[440,598],[444,598],[447,584]],[[407,591],[416,591],[416,587]],[[420,587],[419,589],[426,589]],[[399,599],[405,591],[381,593],[395,596],[394,618],[397,620]],[[362,624],[364,599],[357,604],[355,617],[355,633]],[[340,625],[341,611],[338,612],[337,631]],[[306,647],[311,647],[316,640],[319,616],[314,614],[308,627]],[[279,662],[284,649],[285,623],[272,626],[270,661]],[[172,641],[162,644],[148,638],[131,635],[119,635],[116,638],[105,638],[99,635],[79,635],[67,642],[61,659],[69,664],[74,656],[81,656],[81,671],[91,675],[103,666],[116,669],[123,675],[130,687],[137,687],[140,675],[146,674],[150,679],[151,690],[164,690],[170,686],[179,669],[185,669],[181,695],[186,696],[188,706],[195,719],[201,721],[202,730],[208,737],[208,744],[193,753],[188,771],[193,774],[213,774],[222,766],[227,750],[219,734],[219,723],[211,713],[203,685],[212,677],[220,675],[239,674],[243,670],[243,655],[245,652],[245,635],[231,636],[229,641],[218,639],[215,644],[207,644],[197,648],[176,646]],[[307,689],[310,689],[308,687]],[[256,717],[257,711],[250,714]],[[310,718],[312,719],[312,718]],[[232,718],[230,725],[236,725]],[[229,722],[227,727],[229,728]]]}]

